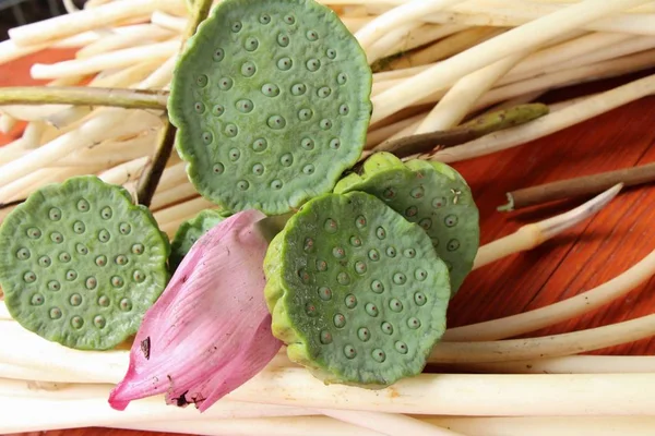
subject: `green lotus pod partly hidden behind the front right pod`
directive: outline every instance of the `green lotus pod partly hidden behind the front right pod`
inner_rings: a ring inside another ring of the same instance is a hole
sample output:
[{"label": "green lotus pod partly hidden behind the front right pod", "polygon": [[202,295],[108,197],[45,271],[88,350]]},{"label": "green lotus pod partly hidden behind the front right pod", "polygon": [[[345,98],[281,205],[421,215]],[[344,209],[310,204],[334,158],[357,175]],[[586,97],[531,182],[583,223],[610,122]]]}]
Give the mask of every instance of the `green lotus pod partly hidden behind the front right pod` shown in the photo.
[{"label": "green lotus pod partly hidden behind the front right pod", "polygon": [[466,181],[441,162],[409,160],[389,153],[372,155],[364,172],[348,174],[335,193],[362,191],[383,199],[430,237],[449,267],[453,295],[471,272],[479,246],[479,213]]}]

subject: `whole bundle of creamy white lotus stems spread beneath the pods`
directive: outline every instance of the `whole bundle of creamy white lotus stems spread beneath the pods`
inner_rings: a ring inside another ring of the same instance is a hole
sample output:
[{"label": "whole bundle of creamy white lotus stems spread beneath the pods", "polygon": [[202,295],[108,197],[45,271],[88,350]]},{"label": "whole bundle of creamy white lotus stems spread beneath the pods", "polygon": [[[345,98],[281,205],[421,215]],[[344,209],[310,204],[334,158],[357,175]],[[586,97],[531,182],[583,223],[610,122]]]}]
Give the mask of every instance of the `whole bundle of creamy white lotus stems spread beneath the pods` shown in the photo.
[{"label": "whole bundle of creamy white lotus stems spread beneath the pods", "polygon": [[[534,101],[549,89],[655,66],[655,5],[647,0],[321,1],[340,14],[374,69],[369,150]],[[51,86],[168,88],[189,20],[184,0],[88,0],[81,11],[66,3],[67,15],[10,31],[0,63],[76,48],[75,59],[34,64],[32,76]],[[552,105],[535,121],[429,158],[454,162],[526,144],[653,93],[650,75]],[[0,106],[1,130],[27,121],[23,136],[0,148],[0,221],[12,202],[76,174],[95,173],[135,192],[166,123],[165,101],[130,108],[51,102]],[[620,187],[483,246],[475,267],[575,226]],[[198,196],[174,154],[151,207],[171,235],[214,205]],[[0,302],[0,433],[111,426],[206,435],[652,435],[655,358],[580,354],[655,335],[655,315],[511,338],[610,304],[653,275],[655,253],[550,306],[449,329],[425,374],[383,390],[323,386],[281,353],[202,415],[166,407],[162,398],[111,410],[107,396],[124,375],[127,350],[82,352],[48,342],[13,322]]]}]

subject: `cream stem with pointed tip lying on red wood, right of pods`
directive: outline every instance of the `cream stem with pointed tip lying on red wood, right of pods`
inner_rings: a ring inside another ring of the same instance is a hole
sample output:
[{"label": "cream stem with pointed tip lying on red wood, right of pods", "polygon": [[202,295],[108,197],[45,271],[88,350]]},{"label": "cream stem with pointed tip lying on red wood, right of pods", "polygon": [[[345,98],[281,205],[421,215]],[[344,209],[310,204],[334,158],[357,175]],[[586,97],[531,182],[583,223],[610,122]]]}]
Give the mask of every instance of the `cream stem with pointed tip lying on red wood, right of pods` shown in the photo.
[{"label": "cream stem with pointed tip lying on red wood, right of pods", "polygon": [[532,250],[591,218],[607,206],[619,194],[621,187],[621,184],[617,184],[574,209],[538,222],[525,225],[512,234],[480,246],[473,269],[481,268],[511,254]]}]

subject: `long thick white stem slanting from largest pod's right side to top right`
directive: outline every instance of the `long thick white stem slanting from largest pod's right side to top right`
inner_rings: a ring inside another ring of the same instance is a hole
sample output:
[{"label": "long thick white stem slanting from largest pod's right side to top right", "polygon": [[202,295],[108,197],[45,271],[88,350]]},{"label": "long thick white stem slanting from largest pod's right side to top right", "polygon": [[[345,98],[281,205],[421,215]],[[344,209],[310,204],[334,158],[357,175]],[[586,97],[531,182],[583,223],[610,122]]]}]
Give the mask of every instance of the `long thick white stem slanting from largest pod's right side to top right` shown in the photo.
[{"label": "long thick white stem slanting from largest pod's right side to top right", "polygon": [[549,39],[553,39],[580,26],[616,13],[646,3],[646,0],[585,0],[561,9],[549,15],[510,29],[502,35],[481,43],[460,55],[417,74],[403,84],[373,98],[371,122],[420,100],[437,89],[450,86],[460,77],[489,65],[510,55],[528,51]]}]

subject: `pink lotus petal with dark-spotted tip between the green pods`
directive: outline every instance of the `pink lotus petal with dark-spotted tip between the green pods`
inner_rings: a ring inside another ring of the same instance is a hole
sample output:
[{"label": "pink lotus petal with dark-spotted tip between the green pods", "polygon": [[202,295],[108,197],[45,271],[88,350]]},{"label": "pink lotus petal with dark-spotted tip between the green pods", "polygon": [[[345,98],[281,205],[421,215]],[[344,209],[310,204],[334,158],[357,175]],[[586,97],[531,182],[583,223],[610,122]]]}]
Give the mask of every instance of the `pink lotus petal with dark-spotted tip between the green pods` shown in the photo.
[{"label": "pink lotus petal with dark-spotted tip between the green pods", "polygon": [[146,312],[130,366],[109,403],[166,392],[202,411],[258,374],[282,342],[271,334],[262,264],[267,241],[257,210],[236,214],[203,235]]}]

